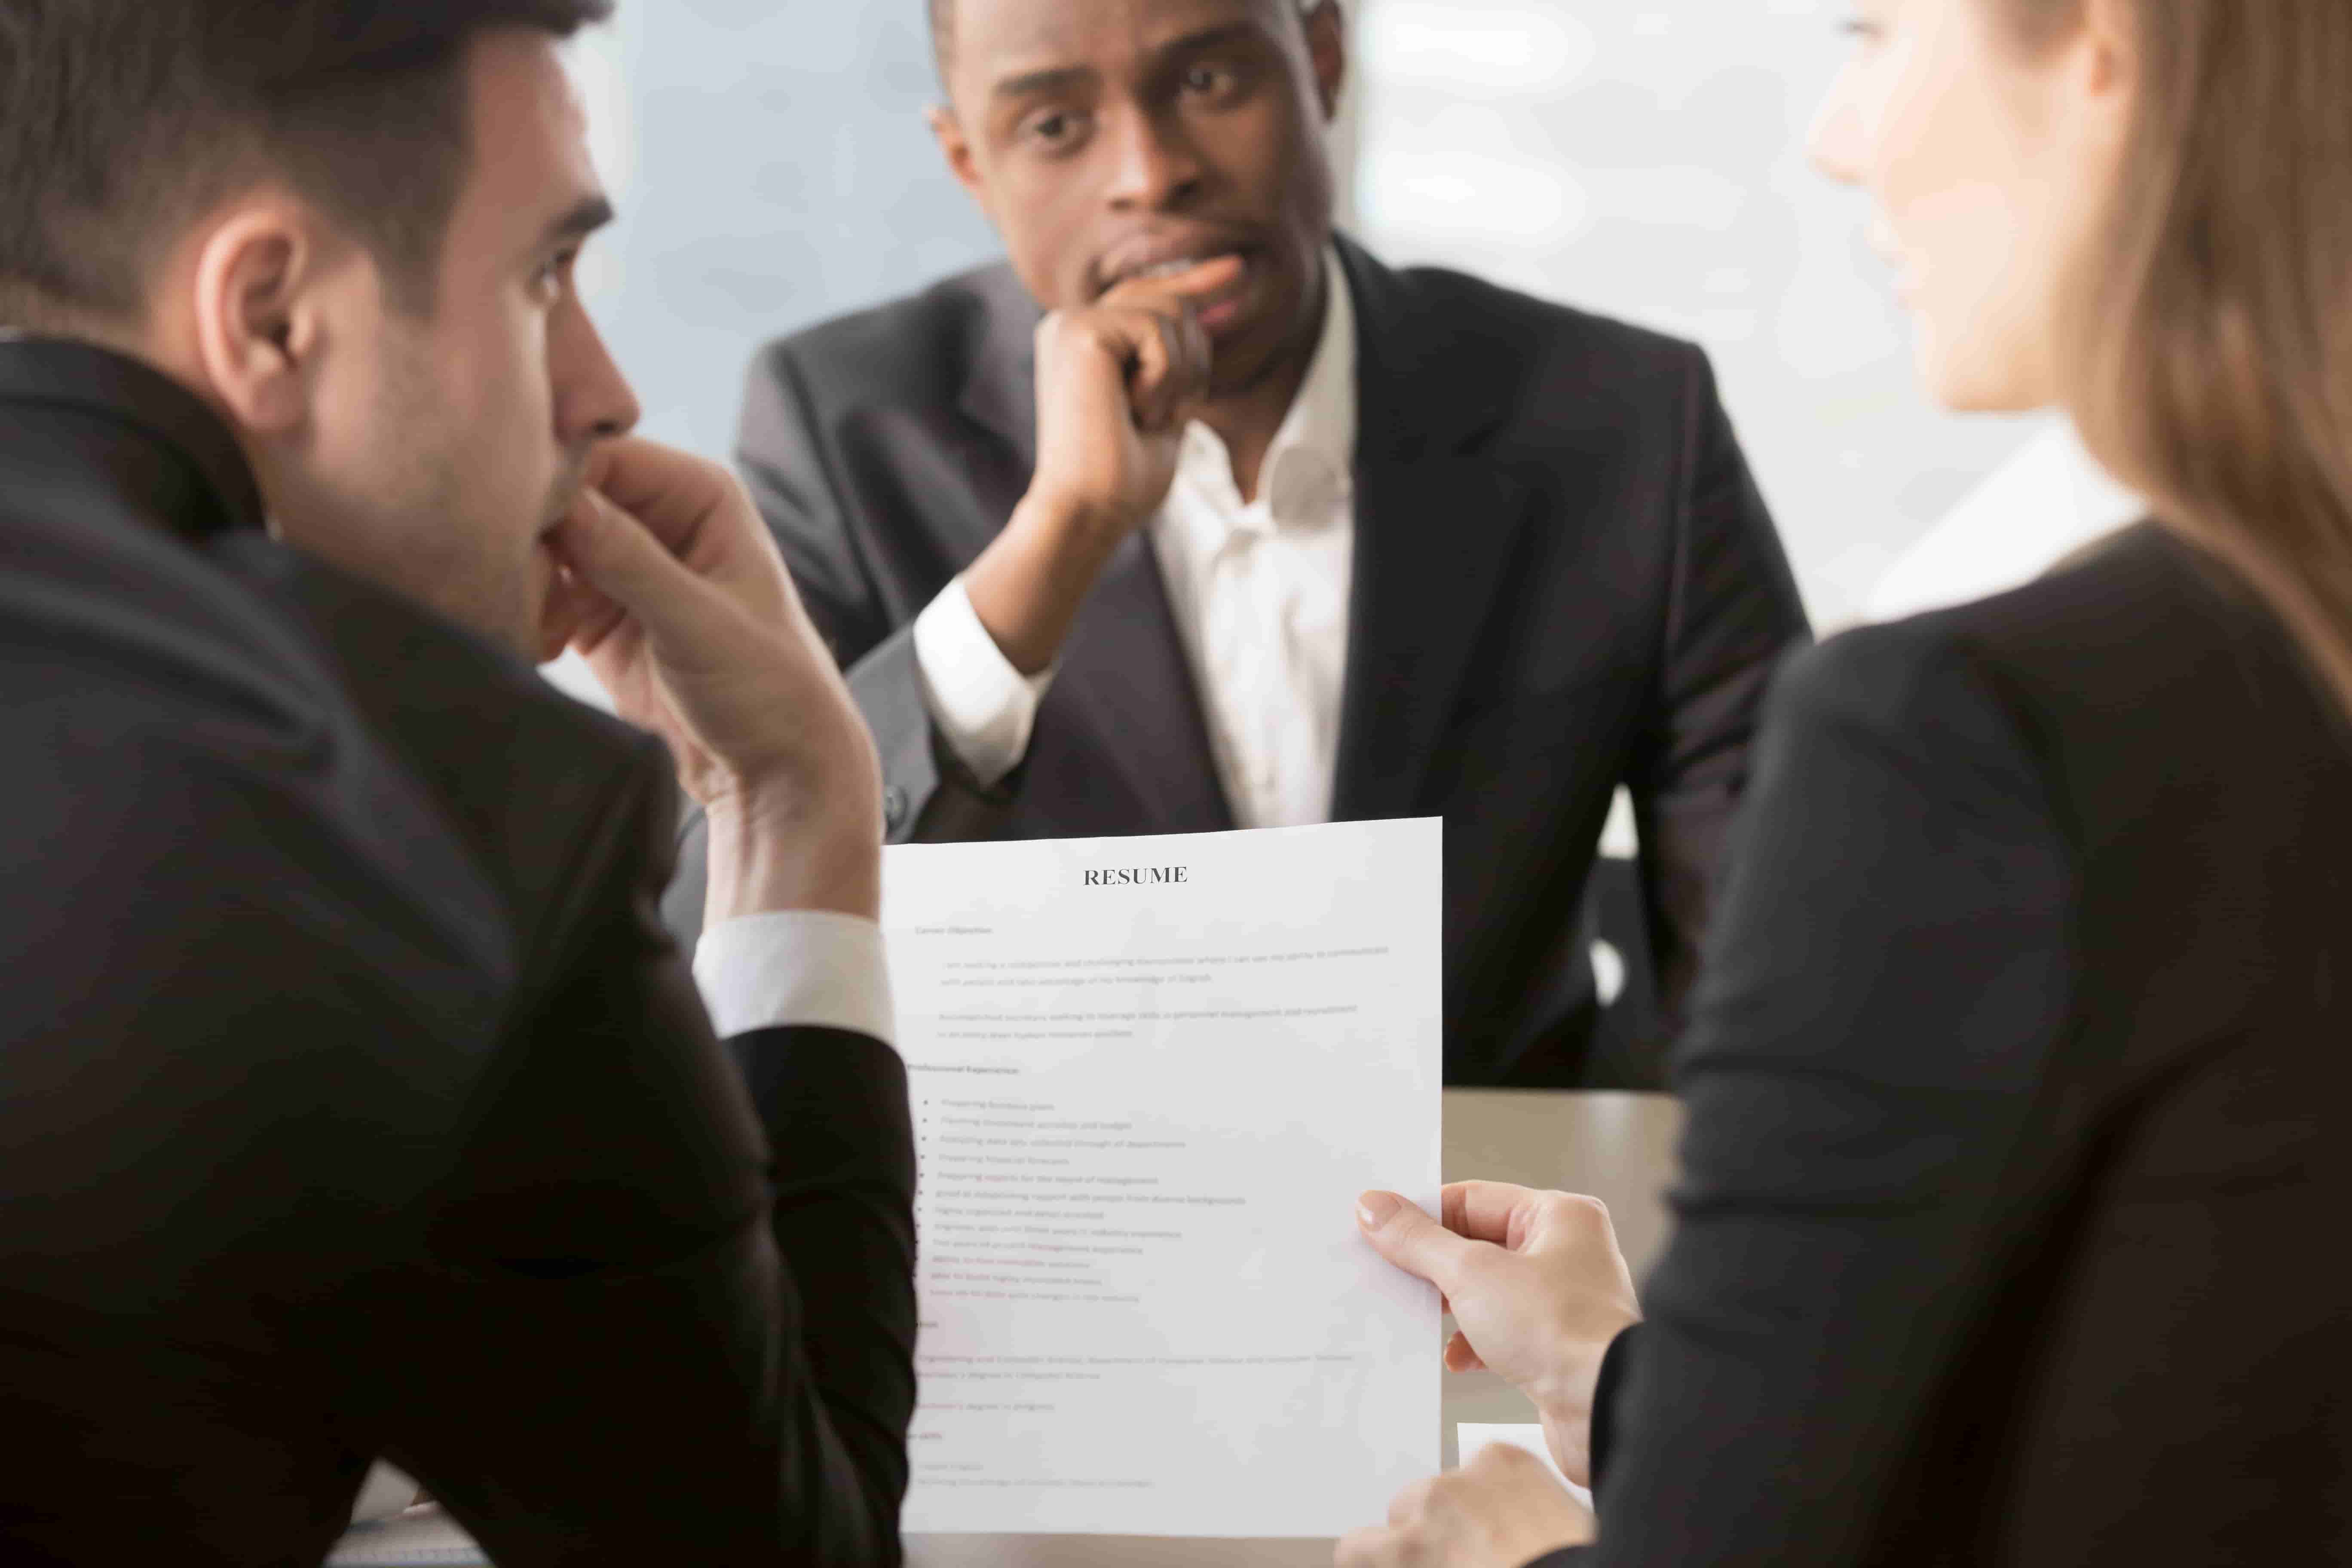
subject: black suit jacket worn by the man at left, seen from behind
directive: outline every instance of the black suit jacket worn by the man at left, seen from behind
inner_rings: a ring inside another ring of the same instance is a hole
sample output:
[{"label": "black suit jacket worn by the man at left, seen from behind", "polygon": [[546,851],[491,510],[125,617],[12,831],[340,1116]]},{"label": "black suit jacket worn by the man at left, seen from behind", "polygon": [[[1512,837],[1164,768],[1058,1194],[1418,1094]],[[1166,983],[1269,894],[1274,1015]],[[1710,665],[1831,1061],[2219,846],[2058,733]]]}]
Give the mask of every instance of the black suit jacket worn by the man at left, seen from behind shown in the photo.
[{"label": "black suit jacket worn by the man at left, seen from behind", "polygon": [[[275,545],[148,369],[0,343],[0,1559],[896,1559],[880,1041],[710,1025],[661,748]],[[746,1093],[748,1086],[748,1093]]]}]

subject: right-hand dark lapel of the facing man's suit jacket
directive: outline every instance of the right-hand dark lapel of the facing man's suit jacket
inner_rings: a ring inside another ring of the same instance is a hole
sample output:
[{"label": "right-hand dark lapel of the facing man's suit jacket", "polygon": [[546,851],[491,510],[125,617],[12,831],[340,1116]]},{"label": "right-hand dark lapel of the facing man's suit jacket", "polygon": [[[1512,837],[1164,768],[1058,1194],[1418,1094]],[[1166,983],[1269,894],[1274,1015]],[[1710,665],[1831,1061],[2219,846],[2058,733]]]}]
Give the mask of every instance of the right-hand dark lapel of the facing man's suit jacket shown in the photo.
[{"label": "right-hand dark lapel of the facing man's suit jacket", "polygon": [[1341,240],[1357,306],[1355,590],[1331,816],[1406,816],[1510,576],[1529,491],[1472,456],[1508,383]]}]

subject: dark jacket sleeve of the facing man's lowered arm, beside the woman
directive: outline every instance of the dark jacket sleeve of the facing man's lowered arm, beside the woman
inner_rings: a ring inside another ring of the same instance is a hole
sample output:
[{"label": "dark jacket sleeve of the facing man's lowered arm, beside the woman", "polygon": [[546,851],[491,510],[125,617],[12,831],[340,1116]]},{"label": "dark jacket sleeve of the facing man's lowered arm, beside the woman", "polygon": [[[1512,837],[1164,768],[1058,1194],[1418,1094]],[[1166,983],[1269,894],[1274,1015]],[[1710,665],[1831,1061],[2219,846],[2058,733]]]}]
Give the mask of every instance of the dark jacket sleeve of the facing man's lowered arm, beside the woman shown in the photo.
[{"label": "dark jacket sleeve of the facing man's lowered arm, beside the woman", "polygon": [[1642,889],[1668,1034],[1679,1032],[1698,973],[1764,686],[1778,658],[1811,637],[1780,536],[1698,350],[1679,428],[1658,684],[1625,780],[1642,835]]}]

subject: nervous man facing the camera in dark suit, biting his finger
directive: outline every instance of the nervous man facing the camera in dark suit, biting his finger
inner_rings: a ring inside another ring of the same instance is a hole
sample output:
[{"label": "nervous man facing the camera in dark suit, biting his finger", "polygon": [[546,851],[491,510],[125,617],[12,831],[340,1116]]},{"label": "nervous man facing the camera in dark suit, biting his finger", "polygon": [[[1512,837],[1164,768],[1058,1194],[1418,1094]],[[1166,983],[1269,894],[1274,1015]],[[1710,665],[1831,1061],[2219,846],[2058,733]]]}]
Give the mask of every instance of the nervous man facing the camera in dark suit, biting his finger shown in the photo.
[{"label": "nervous man facing the camera in dark suit, biting his finger", "polygon": [[774,343],[741,433],[891,835],[1444,816],[1446,1079],[1576,1081],[1611,795],[1672,1001],[1806,635],[1703,355],[1334,237],[1331,0],[934,26],[1009,266]]}]

